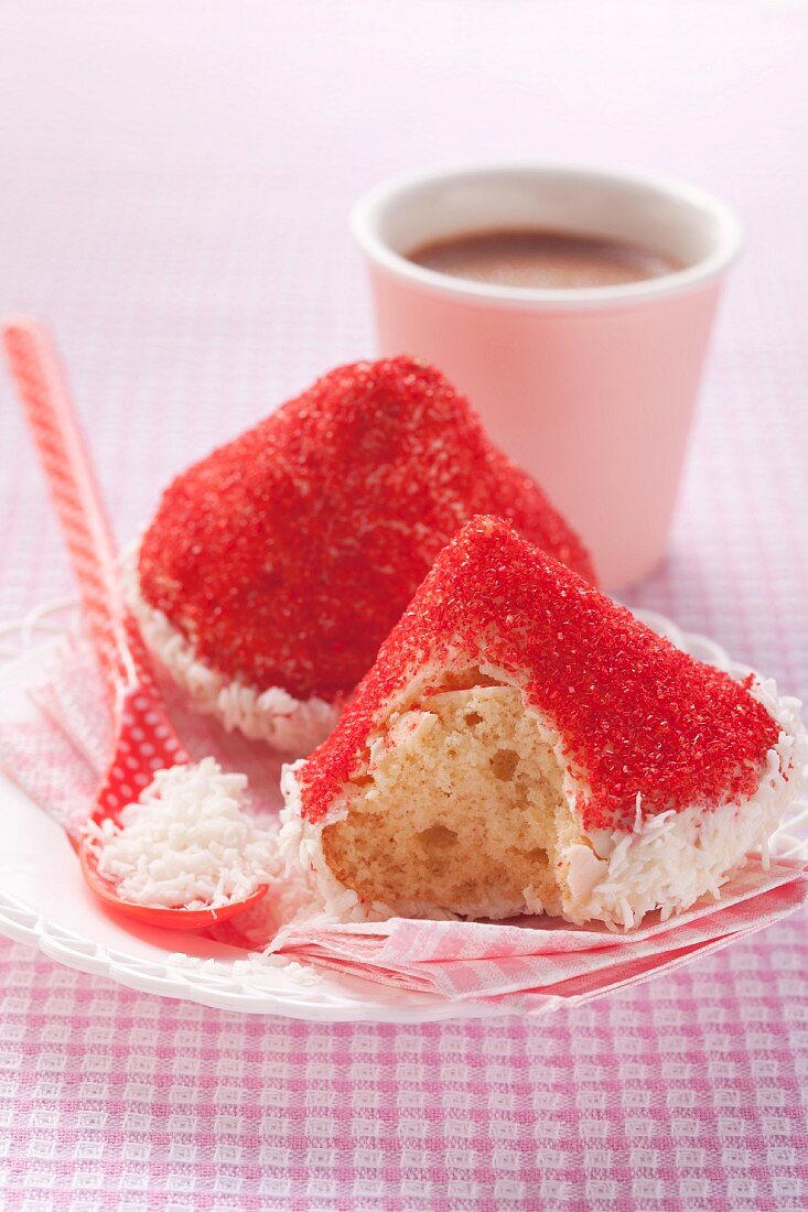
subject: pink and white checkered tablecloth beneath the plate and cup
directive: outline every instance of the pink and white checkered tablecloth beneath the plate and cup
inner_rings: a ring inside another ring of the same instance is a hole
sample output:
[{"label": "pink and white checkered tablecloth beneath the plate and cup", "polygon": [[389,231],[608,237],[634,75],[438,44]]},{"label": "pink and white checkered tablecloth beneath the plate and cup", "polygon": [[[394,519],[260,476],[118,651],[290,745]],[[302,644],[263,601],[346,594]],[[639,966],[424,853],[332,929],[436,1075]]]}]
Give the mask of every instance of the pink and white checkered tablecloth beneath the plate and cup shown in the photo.
[{"label": "pink and white checkered tablecloth beneath the plate and cup", "polygon": [[[741,211],[670,559],[633,595],[808,698],[808,5],[6,0],[0,309],[49,318],[118,533],[172,471],[372,350],[377,178],[536,155]],[[0,382],[0,616],[70,576]],[[159,434],[159,436],[158,436]],[[802,1210],[804,914],[559,1012],[217,1013],[0,941],[0,1207]]]}]

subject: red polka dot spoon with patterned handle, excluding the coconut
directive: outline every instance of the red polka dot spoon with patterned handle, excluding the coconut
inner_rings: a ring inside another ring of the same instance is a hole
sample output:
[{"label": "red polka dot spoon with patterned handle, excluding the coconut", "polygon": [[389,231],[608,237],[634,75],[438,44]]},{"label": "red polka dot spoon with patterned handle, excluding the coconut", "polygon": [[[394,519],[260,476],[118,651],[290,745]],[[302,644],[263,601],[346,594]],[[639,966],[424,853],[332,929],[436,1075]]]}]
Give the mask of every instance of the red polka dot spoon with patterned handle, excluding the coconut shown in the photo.
[{"label": "red polka dot spoon with patterned handle, excluding the coconut", "polygon": [[[73,568],[90,639],[106,676],[114,714],[114,751],[90,819],[119,823],[123,810],[155,773],[189,765],[150,673],[137,624],[124,602],[115,545],[70,394],[47,330],[35,320],[4,325],[6,355],[17,394],[49,481]],[[78,845],[84,876],[107,905],[152,926],[201,930],[254,904],[266,893],[210,909],[137,904],[118,896],[98,871],[98,853],[84,833]]]}]

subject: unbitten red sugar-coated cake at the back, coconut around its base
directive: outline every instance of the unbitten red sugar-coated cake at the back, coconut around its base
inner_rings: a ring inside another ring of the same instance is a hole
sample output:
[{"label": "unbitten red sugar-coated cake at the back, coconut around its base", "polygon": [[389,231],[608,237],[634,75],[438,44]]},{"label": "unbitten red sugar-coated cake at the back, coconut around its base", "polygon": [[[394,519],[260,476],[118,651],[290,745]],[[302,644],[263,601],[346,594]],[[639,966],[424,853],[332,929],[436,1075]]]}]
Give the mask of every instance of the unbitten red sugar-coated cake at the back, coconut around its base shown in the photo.
[{"label": "unbitten red sugar-coated cake at the back, coconut around its base", "polygon": [[307,753],[476,513],[593,579],[575,533],[443,375],[357,362],[173,481],[132,606],[199,708]]}]

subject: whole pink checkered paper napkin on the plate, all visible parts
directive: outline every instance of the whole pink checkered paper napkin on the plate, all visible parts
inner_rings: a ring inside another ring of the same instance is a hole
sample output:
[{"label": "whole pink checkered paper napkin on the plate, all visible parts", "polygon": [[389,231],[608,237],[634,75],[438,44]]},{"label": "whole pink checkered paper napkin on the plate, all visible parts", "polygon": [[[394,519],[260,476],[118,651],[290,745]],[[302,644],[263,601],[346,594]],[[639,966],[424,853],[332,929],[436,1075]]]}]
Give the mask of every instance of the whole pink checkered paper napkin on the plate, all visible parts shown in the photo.
[{"label": "whole pink checkered paper napkin on the plate, all visible parts", "polygon": [[[278,760],[264,745],[228,737],[215,721],[188,711],[173,686],[164,686],[164,692],[192,756],[212,754],[224,767],[244,771],[254,811],[273,813],[279,801]],[[0,764],[75,834],[109,745],[103,686],[82,641],[64,641],[53,650],[29,697],[38,708],[35,719],[0,725]],[[534,1010],[648,979],[762,930],[808,899],[808,875],[800,863],[776,862],[764,870],[751,862],[726,887],[721,902],[705,898],[667,922],[653,915],[630,934],[611,933],[599,924],[575,927],[545,917],[517,924],[284,922],[279,913],[284,899],[271,892],[244,921],[234,919],[210,933],[229,945],[266,948],[398,988]]]}]

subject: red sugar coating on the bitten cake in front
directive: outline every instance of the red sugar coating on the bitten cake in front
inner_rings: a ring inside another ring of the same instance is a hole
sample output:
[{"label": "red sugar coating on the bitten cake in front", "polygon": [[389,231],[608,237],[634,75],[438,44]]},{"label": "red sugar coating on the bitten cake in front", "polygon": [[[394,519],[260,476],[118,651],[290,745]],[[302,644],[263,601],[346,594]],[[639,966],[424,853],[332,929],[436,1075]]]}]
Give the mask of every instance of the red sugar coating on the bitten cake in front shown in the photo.
[{"label": "red sugar coating on the bitten cake in front", "polygon": [[592,790],[587,829],[752,795],[775,721],[746,688],[694,661],[495,518],[440,554],[340,724],[302,770],[320,821],[362,762],[389,698],[423,664],[501,667],[558,728]]}]

